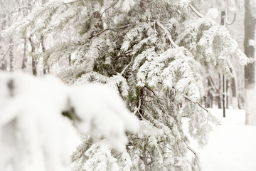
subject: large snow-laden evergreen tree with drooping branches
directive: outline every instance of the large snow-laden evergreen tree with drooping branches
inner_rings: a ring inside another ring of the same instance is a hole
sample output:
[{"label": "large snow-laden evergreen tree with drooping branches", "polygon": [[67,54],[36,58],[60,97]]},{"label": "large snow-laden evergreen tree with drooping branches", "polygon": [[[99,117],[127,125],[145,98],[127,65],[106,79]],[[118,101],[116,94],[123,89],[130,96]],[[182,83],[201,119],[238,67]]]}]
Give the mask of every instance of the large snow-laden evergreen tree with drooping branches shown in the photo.
[{"label": "large snow-laden evergreen tree with drooping branches", "polygon": [[[242,9],[240,1],[218,2]],[[58,73],[63,81],[107,83],[139,118],[142,131],[127,133],[124,152],[84,137],[73,170],[200,170],[184,124],[203,145],[210,123],[217,122],[200,105],[205,98],[201,68],[230,78],[229,55],[247,63],[225,26],[200,9],[201,0],[51,1],[3,32],[47,35],[73,26],[78,37],[33,57],[42,57],[45,66],[70,61]]]}]

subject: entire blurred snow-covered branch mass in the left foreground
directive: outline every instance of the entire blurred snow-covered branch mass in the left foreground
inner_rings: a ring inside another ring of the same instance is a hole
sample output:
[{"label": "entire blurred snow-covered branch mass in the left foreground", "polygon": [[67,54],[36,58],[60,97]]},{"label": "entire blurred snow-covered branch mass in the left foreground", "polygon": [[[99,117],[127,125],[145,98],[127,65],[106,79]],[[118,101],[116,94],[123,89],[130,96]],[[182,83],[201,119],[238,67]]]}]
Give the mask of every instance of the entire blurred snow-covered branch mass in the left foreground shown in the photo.
[{"label": "entire blurred snow-covered branch mass in the left foreground", "polygon": [[[70,110],[79,131],[61,115]],[[53,76],[0,73],[0,171],[68,170],[80,134],[104,137],[121,151],[124,131],[138,129],[139,120],[108,86],[67,86]]]}]

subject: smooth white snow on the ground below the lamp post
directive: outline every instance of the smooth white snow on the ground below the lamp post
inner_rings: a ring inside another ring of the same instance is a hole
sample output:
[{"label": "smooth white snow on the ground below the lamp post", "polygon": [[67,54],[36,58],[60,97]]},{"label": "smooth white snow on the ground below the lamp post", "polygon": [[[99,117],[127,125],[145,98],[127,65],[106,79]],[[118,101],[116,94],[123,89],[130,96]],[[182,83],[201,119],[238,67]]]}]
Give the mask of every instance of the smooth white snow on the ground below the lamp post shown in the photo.
[{"label": "smooth white snow on the ground below the lamp post", "polygon": [[223,110],[209,110],[222,123],[210,133],[208,145],[197,150],[202,171],[256,170],[256,126],[245,125],[245,111],[226,110],[223,118]]}]

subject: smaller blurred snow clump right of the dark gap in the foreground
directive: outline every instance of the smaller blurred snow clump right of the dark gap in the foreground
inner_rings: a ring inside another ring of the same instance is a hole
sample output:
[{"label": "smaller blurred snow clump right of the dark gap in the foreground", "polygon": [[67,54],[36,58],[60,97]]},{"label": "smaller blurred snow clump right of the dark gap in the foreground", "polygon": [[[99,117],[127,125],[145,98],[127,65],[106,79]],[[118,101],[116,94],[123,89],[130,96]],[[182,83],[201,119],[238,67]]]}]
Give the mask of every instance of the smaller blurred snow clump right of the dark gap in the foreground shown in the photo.
[{"label": "smaller blurred snow clump right of the dark gap in the foreground", "polygon": [[82,120],[78,123],[80,132],[96,139],[103,135],[116,150],[122,151],[127,143],[124,131],[136,132],[139,123],[117,91],[99,83],[74,86],[72,89],[71,105]]}]

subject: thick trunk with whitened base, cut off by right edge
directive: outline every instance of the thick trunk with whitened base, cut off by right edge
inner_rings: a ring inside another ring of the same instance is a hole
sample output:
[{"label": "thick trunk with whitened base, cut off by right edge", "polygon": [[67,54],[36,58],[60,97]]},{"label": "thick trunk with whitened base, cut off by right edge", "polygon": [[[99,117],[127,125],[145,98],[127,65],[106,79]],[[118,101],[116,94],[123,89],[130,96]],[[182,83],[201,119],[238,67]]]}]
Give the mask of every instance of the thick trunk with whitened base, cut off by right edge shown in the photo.
[{"label": "thick trunk with whitened base, cut off by right edge", "polygon": [[[245,55],[255,61],[255,46],[250,40],[255,40],[256,19],[250,13],[250,1],[245,0]],[[255,95],[255,63],[245,66],[245,124],[256,125]]]}]

